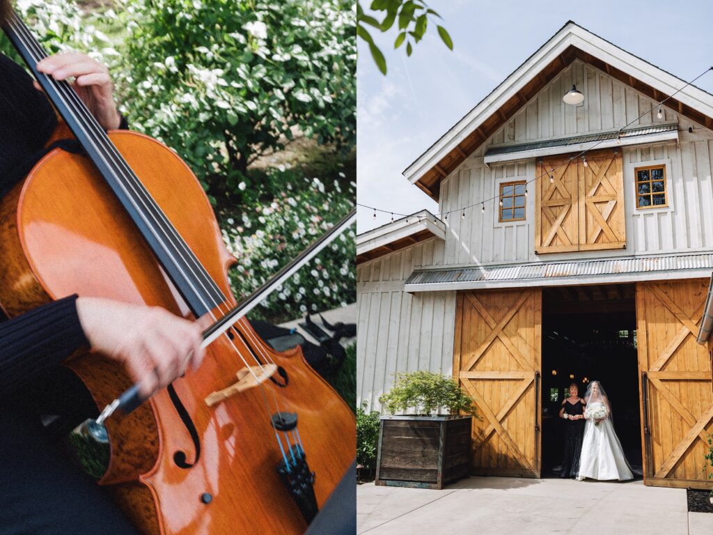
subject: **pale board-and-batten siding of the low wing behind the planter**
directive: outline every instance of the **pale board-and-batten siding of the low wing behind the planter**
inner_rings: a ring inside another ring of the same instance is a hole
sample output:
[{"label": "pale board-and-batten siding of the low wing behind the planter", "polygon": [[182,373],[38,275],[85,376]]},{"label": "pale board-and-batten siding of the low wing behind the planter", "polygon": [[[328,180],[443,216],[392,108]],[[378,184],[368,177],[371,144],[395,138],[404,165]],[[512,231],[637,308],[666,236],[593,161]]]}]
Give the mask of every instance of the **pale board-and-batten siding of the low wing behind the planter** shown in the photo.
[{"label": "pale board-and-batten siding of the low wing behind the planter", "polygon": [[456,292],[404,292],[416,267],[443,265],[443,240],[422,243],[356,267],[356,402],[381,410],[396,371],[450,375]]}]

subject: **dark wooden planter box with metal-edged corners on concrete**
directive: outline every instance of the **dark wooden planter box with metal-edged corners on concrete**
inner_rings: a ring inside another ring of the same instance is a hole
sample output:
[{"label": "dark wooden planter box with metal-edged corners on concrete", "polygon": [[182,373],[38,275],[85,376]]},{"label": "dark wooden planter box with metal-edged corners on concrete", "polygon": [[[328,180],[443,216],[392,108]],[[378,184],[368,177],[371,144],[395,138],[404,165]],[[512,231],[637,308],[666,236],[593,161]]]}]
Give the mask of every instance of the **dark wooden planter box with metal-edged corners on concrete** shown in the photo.
[{"label": "dark wooden planter box with metal-edged corners on concrete", "polygon": [[468,475],[470,416],[382,416],[376,484],[442,489]]}]

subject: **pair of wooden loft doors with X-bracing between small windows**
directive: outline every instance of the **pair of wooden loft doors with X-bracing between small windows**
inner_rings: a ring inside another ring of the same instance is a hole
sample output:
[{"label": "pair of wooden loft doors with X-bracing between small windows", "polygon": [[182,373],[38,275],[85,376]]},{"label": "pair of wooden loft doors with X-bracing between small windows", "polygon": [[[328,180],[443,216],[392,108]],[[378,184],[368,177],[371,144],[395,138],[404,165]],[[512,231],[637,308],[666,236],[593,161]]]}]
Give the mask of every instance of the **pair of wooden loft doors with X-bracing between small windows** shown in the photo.
[{"label": "pair of wooden loft doors with X-bracing between small windows", "polygon": [[541,158],[535,185],[535,253],[626,247],[620,151]]}]

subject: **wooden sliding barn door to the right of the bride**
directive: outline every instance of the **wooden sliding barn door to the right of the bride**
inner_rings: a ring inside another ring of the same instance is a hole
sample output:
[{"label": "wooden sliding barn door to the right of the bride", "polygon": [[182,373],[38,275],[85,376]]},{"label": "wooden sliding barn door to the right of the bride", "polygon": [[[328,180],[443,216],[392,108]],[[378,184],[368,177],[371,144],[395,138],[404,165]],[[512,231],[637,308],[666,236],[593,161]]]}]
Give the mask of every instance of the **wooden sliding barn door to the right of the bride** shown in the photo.
[{"label": "wooden sliding barn door to the right of the bride", "polygon": [[696,343],[707,282],[636,285],[647,485],[712,486],[703,458],[713,432],[711,361],[707,347]]}]

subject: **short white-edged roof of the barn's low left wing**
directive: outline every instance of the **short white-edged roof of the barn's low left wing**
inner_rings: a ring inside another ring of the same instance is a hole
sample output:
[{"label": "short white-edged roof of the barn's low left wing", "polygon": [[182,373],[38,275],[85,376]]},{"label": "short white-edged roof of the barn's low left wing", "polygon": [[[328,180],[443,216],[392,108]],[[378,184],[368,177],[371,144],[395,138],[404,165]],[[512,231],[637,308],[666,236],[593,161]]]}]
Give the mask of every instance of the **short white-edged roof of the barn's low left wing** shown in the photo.
[{"label": "short white-edged roof of the barn's low left wing", "polygon": [[356,236],[356,263],[361,264],[429,238],[446,239],[446,225],[421,210]]}]

